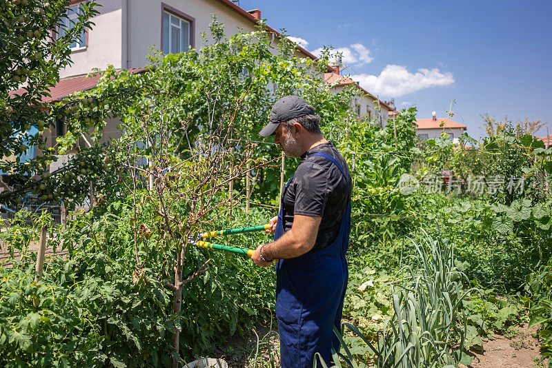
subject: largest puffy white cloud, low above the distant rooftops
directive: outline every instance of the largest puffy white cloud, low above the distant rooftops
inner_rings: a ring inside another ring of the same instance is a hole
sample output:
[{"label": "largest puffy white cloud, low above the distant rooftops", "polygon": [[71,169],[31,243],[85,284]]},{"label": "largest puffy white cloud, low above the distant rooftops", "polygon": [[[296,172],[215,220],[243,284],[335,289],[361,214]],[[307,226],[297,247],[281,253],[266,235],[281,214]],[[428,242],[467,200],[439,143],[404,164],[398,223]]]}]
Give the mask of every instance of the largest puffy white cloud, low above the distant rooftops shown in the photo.
[{"label": "largest puffy white cloud, low above the distant rooftops", "polygon": [[434,69],[418,69],[411,73],[402,65],[386,65],[380,75],[357,74],[351,76],[353,81],[368,92],[384,97],[399,97],[404,94],[424,90],[425,88],[451,85],[454,77],[451,72]]}]

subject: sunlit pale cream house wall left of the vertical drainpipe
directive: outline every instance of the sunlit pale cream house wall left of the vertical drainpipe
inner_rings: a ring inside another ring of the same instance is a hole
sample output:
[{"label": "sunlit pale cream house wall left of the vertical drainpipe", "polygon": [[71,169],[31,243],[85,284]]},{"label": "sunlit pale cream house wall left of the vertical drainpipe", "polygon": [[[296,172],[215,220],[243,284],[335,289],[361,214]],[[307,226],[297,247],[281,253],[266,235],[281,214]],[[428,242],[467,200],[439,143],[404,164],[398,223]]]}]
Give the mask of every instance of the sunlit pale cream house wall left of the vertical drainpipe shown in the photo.
[{"label": "sunlit pale cream house wall left of the vertical drainpipe", "polygon": [[88,46],[84,50],[71,53],[72,65],[62,70],[60,77],[87,74],[93,68],[106,69],[108,65],[121,68],[122,1],[99,0],[102,7],[97,8],[101,14],[91,20],[96,25],[88,30]]}]

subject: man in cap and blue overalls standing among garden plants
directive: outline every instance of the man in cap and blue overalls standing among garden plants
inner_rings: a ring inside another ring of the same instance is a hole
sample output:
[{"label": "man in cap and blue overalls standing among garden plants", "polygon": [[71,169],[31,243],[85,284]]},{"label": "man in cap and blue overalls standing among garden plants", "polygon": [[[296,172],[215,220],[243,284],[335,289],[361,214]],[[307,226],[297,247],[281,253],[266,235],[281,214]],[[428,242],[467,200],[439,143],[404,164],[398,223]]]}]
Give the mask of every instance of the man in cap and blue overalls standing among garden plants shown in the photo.
[{"label": "man in cap and blue overalls standing among garden plants", "polygon": [[320,117],[299,96],[274,104],[259,133],[275,135],[286,156],[302,161],[282,193],[280,212],[270,220],[274,242],[260,245],[251,259],[276,265],[276,317],[283,368],[326,363],[339,343],[348,269],[345,252],[351,224],[351,174],[319,127]]}]

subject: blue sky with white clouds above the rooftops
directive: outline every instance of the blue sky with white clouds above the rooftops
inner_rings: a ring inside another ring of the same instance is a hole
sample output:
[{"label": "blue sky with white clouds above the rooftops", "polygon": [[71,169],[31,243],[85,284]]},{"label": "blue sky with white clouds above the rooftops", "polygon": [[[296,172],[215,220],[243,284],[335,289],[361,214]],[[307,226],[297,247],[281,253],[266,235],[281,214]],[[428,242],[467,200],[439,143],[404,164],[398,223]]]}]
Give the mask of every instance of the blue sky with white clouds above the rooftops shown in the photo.
[{"label": "blue sky with white clouds above the rooftops", "polygon": [[[346,73],[417,117],[435,110],[471,136],[484,136],[481,114],[549,124],[552,134],[552,1],[239,0],[316,52],[344,52]],[[546,127],[540,130],[546,135]]]}]

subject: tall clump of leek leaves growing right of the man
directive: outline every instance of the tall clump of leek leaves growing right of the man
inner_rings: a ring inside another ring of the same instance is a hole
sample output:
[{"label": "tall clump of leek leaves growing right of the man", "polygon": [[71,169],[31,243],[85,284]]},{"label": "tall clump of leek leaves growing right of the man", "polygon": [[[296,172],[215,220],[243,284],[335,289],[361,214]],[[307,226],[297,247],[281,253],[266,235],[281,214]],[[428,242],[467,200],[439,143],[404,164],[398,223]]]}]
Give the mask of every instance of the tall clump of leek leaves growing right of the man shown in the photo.
[{"label": "tall clump of leek leaves growing right of the man", "polygon": [[[344,323],[341,333],[335,331],[344,354],[334,354],[333,367],[364,367],[368,360],[374,360],[376,367],[457,367],[459,362],[471,363],[464,353],[467,320],[462,309],[464,298],[471,292],[463,287],[468,279],[455,267],[453,245],[422,233],[422,243],[411,240],[415,247],[413,265],[402,269],[405,276],[400,286],[391,288],[395,314],[373,341]],[[351,354],[342,338],[345,327],[364,340],[373,358]],[[322,366],[327,367],[324,362]]]}]

